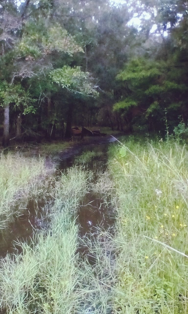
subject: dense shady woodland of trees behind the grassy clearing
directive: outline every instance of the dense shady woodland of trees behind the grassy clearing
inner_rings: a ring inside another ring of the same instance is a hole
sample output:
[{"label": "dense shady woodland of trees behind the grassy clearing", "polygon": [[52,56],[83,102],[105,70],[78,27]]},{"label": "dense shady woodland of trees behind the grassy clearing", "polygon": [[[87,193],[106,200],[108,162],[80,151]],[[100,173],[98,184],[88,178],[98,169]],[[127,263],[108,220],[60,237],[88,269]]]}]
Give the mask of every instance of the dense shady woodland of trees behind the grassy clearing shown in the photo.
[{"label": "dense shady woodland of trees behind the grassy clearing", "polygon": [[[4,146],[12,138],[70,138],[73,125],[125,133],[186,130],[188,2],[17,5],[0,3]],[[128,23],[133,16],[139,29]]]}]

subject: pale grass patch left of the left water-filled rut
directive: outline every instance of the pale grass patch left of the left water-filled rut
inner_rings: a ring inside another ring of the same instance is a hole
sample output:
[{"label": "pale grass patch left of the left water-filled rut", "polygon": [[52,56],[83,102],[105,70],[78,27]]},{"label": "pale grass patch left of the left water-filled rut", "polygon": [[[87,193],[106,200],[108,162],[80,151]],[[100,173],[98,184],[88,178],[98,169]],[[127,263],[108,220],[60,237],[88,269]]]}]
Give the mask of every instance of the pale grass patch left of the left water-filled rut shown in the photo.
[{"label": "pale grass patch left of the left water-filled rut", "polygon": [[15,211],[17,214],[22,211],[19,207],[25,207],[29,197],[41,192],[47,174],[43,158],[24,158],[10,153],[0,156],[0,229],[13,219]]}]

